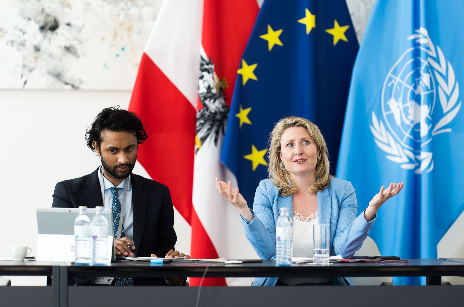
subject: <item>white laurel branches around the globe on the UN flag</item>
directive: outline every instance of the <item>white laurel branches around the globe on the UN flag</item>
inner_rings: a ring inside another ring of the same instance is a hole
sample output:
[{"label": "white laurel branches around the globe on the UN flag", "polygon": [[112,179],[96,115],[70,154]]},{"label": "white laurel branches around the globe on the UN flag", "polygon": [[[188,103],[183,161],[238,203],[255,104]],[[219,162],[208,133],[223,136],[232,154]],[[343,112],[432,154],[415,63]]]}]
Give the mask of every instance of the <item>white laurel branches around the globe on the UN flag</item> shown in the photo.
[{"label": "white laurel branches around the globe on the UN flag", "polygon": [[[443,110],[443,117],[432,129],[432,137],[445,132],[451,132],[451,128],[445,128],[458,114],[461,108],[461,101],[458,102],[459,85],[455,79],[454,69],[451,63],[446,61],[443,51],[438,45],[432,43],[428,31],[420,27],[407,38],[415,39],[417,43],[427,47],[427,61],[433,68],[433,73],[438,81],[438,98]],[[448,81],[445,81],[446,78]],[[400,163],[403,169],[414,169],[416,174],[421,174],[425,169],[429,173],[433,169],[433,153],[421,151],[420,154],[414,154],[411,150],[403,148],[396,142],[390,132],[387,132],[382,120],[377,119],[374,111],[372,112],[371,132],[374,135],[374,141],[379,148],[387,153],[386,158],[395,163]]]}]

